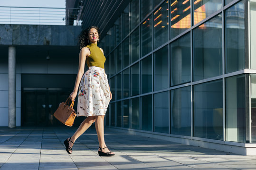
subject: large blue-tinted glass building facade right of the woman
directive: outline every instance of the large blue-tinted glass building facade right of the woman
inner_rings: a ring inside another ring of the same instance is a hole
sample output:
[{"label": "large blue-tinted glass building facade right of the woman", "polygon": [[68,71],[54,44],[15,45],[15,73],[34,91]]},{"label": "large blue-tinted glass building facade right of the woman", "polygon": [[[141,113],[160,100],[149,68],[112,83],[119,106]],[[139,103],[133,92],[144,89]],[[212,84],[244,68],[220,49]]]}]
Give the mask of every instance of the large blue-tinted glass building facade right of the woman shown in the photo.
[{"label": "large blue-tinted glass building facade right of the woman", "polygon": [[132,0],[101,40],[113,94],[105,125],[256,143],[247,5],[252,21],[255,0]]}]

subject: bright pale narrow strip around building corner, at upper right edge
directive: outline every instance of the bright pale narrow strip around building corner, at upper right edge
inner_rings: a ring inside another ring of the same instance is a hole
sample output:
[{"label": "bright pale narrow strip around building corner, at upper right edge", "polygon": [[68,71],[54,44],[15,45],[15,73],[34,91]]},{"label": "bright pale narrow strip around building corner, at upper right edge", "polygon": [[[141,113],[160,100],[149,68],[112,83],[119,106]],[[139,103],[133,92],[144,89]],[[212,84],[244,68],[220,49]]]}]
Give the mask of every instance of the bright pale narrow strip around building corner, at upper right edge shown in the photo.
[{"label": "bright pale narrow strip around building corner, at upper right edge", "polygon": [[250,68],[256,69],[256,1],[250,0]]}]

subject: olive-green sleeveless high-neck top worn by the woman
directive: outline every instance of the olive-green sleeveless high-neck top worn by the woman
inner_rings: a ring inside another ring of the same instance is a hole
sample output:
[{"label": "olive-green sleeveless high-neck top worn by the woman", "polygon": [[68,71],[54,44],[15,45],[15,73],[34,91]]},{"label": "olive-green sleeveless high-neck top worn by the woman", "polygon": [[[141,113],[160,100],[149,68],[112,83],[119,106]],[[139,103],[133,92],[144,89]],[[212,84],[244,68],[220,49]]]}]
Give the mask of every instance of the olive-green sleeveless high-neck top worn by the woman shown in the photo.
[{"label": "olive-green sleeveless high-neck top worn by the woman", "polygon": [[90,43],[86,45],[90,49],[91,54],[86,58],[86,64],[88,67],[96,66],[100,68],[104,68],[104,62],[106,60],[103,52],[95,43]]}]

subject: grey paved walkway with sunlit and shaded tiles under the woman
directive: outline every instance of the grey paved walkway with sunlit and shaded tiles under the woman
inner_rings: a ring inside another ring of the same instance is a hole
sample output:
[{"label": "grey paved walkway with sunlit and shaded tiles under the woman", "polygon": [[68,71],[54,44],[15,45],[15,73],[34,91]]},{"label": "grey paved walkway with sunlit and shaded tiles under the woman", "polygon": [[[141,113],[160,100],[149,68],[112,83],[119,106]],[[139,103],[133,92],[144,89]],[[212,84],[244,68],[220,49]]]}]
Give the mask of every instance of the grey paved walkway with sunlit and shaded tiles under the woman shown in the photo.
[{"label": "grey paved walkway with sunlit and shaded tiles under the woman", "polygon": [[256,156],[242,156],[105,129],[116,155],[99,157],[94,128],[71,155],[63,141],[74,127],[0,127],[0,170],[256,170]]}]

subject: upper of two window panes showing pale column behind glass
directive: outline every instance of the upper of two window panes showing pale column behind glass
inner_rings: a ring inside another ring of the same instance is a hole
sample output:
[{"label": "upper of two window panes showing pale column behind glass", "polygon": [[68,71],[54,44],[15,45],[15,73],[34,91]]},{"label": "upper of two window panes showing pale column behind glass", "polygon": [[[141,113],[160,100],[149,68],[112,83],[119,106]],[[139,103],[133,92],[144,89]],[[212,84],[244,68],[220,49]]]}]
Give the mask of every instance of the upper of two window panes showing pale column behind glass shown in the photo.
[{"label": "upper of two window panes showing pale column behind glass", "polygon": [[190,82],[190,33],[171,43],[171,85]]}]

